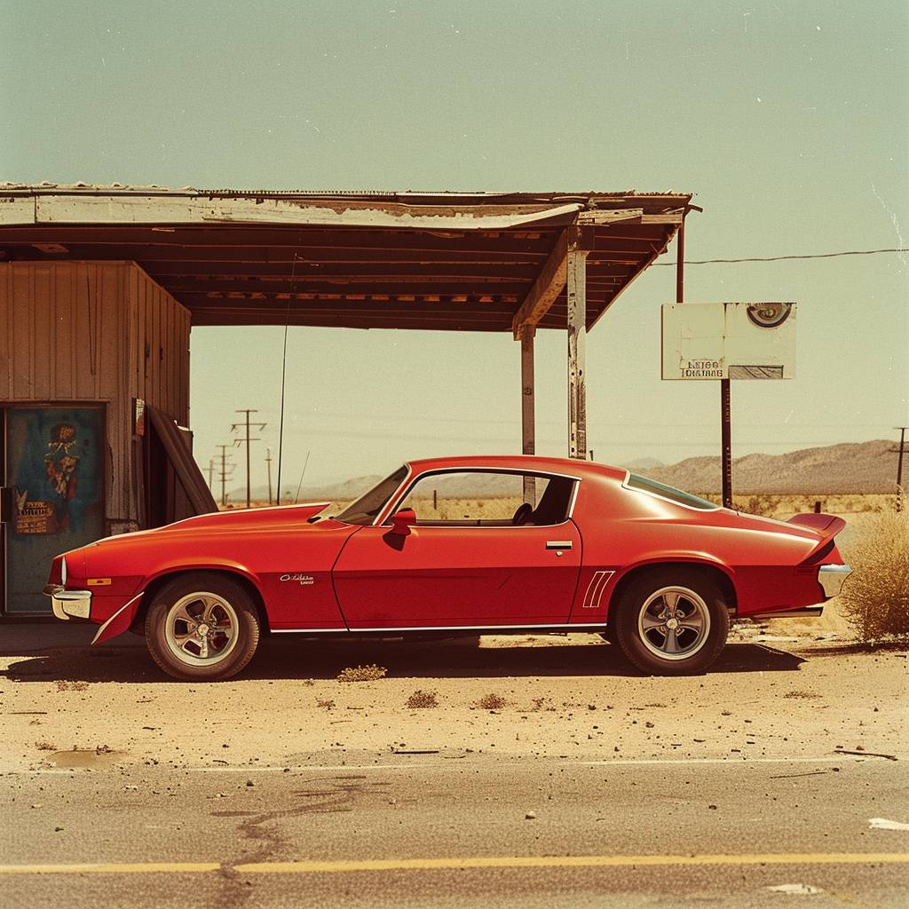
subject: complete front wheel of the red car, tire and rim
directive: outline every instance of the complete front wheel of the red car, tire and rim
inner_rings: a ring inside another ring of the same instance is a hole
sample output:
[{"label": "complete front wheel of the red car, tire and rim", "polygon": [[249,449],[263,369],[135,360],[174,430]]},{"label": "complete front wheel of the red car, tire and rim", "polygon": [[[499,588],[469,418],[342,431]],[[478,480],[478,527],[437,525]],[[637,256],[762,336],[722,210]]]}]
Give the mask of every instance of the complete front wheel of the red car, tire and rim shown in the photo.
[{"label": "complete front wheel of the red car, tire and rim", "polygon": [[243,584],[224,574],[175,577],[155,594],[145,614],[148,651],[177,679],[228,679],[249,663],[258,643],[253,598]]}]

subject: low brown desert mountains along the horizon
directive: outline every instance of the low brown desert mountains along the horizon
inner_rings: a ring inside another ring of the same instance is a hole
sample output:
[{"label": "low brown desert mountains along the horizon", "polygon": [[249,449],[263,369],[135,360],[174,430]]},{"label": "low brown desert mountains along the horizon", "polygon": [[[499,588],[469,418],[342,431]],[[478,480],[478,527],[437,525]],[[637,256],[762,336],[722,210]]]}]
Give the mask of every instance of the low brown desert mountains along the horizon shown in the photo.
[{"label": "low brown desert mountains along the horizon", "polygon": [[[736,494],[889,493],[896,481],[893,449],[894,443],[876,439],[803,448],[787,454],[745,454],[733,460],[733,488]],[[678,464],[663,464],[656,458],[644,457],[622,466],[693,493],[719,493],[721,487],[719,457],[686,458]],[[905,473],[909,477],[909,464],[906,464]],[[347,502],[381,479],[379,474],[369,474],[344,483],[305,486],[300,490],[299,501]],[[494,496],[513,492],[512,484],[499,484],[494,478],[485,481],[482,489],[477,489],[475,482],[474,479],[471,488],[465,488],[464,493]],[[445,493],[461,494],[455,486],[446,487]],[[256,487],[252,497],[254,501],[264,502],[268,490],[264,486]],[[234,504],[244,504],[245,498],[245,489],[234,489],[230,493],[230,501]]]}]

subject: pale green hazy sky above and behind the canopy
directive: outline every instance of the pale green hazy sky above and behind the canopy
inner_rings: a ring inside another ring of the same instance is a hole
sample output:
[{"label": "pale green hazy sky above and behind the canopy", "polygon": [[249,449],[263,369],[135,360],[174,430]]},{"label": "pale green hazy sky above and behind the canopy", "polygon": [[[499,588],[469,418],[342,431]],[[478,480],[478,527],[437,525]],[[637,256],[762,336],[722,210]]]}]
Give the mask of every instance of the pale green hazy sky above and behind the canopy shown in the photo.
[{"label": "pale green hazy sky above and behind the canopy", "polygon": [[[0,14],[0,179],[689,191],[704,206],[688,220],[694,259],[909,235],[905,0],[0,0]],[[906,254],[689,267],[690,302],[799,303],[798,378],[734,384],[734,454],[909,422],[907,275]],[[659,379],[673,299],[673,269],[651,269],[589,337],[597,460],[717,451],[718,389]],[[202,464],[235,407],[258,407],[276,448],[282,333],[194,330]],[[566,447],[564,347],[538,337],[546,454]],[[294,484],[307,450],[307,482],[519,450],[507,335],[292,328],[289,351]],[[265,443],[257,454],[261,482]]]}]

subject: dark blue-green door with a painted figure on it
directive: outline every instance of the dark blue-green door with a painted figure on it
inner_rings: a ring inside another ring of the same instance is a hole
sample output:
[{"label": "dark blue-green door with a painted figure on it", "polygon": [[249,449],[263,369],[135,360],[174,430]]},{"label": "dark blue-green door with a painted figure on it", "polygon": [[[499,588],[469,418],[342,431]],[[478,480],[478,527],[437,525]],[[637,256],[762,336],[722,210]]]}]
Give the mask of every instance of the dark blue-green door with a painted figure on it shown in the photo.
[{"label": "dark blue-green door with a painted figure on it", "polygon": [[49,614],[41,590],[51,559],[105,533],[104,414],[103,406],[3,411],[7,615]]}]

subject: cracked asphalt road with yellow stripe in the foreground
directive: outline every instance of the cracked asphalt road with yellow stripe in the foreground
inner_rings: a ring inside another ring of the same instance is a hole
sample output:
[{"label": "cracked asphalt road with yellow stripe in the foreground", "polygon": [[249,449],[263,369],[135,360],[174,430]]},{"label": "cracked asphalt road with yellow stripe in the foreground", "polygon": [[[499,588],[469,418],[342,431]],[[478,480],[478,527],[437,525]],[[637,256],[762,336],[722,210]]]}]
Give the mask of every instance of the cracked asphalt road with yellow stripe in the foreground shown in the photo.
[{"label": "cracked asphalt road with yellow stripe in the foreground", "polygon": [[909,904],[900,761],[323,759],[5,774],[3,903]]}]

